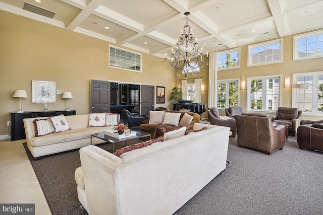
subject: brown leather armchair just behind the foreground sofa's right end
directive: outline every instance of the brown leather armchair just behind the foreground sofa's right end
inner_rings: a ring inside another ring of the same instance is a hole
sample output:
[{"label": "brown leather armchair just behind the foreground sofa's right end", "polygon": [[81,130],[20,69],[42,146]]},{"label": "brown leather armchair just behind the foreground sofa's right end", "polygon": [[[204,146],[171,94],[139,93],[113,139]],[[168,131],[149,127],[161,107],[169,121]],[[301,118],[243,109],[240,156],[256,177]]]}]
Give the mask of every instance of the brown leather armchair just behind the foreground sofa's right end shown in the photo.
[{"label": "brown leather armchair just behind the foreground sofa's right end", "polygon": [[230,127],[230,130],[232,131],[231,137],[235,137],[237,134],[237,126],[236,126],[236,120],[229,118],[225,119],[226,117],[221,118],[219,114],[219,110],[217,107],[212,107],[207,111],[208,119],[212,125],[221,125]]}]

